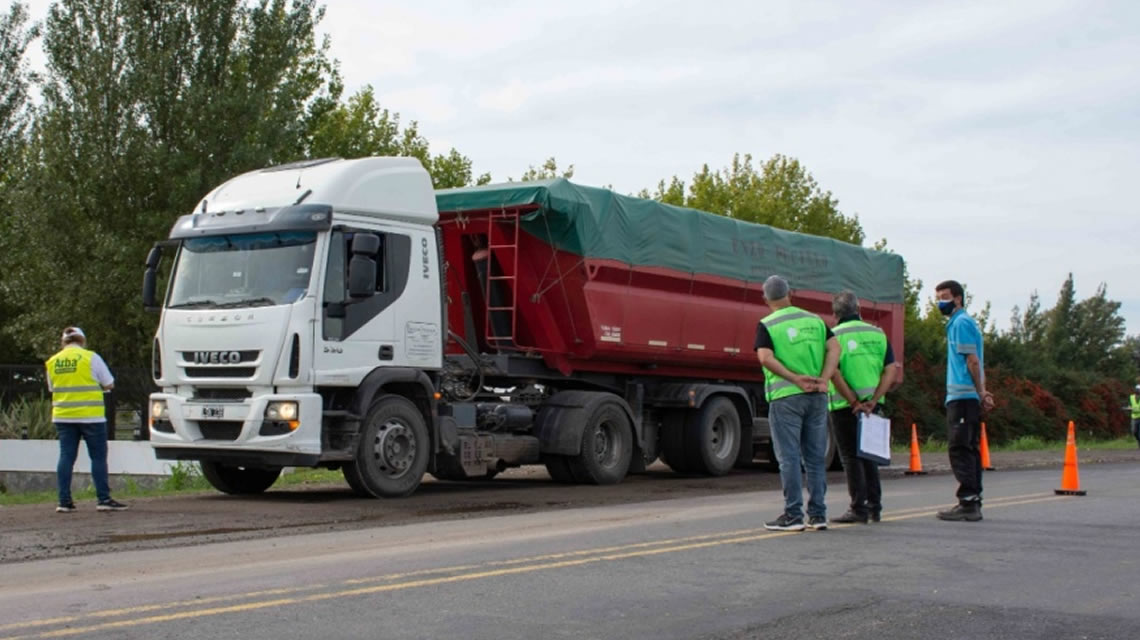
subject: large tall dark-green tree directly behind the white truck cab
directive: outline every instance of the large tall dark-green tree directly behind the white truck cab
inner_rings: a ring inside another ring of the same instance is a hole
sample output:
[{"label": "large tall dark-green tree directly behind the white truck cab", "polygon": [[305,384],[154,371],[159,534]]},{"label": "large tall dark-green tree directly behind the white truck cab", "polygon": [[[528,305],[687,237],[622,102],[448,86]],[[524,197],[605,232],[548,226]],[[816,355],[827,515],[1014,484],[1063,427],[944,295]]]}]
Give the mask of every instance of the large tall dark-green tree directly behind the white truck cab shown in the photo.
[{"label": "large tall dark-green tree directly behind the white truck cab", "polygon": [[2,331],[40,354],[79,324],[123,366],[146,362],[155,318],[141,258],[212,186],[303,155],[337,100],[315,0],[59,0],[47,73],[0,256]]}]

